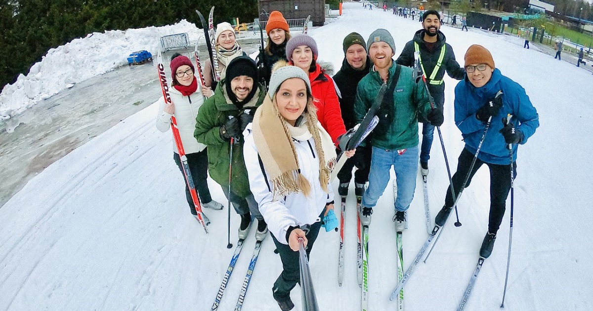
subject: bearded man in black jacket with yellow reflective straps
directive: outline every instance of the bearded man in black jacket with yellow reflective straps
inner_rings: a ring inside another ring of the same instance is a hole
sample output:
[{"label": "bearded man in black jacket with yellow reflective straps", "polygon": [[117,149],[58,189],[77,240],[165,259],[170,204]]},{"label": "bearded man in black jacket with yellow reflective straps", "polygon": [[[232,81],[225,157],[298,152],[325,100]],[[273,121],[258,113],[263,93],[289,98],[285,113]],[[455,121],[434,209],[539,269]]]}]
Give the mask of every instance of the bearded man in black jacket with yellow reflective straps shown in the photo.
[{"label": "bearded man in black jacket with yellow reflective straps", "polygon": [[[396,63],[403,66],[414,66],[414,52],[420,52],[420,65],[426,77],[428,91],[434,104],[438,107],[445,103],[445,84],[443,76],[445,70],[448,75],[457,80],[466,76],[466,70],[455,60],[452,47],[445,42],[445,35],[441,28],[441,15],[434,11],[426,11],[423,15],[421,30],[416,31],[414,39],[406,43]],[[431,158],[431,146],[435,127],[426,120],[422,120],[422,147],[420,148],[420,172],[428,175],[428,159]]]}]

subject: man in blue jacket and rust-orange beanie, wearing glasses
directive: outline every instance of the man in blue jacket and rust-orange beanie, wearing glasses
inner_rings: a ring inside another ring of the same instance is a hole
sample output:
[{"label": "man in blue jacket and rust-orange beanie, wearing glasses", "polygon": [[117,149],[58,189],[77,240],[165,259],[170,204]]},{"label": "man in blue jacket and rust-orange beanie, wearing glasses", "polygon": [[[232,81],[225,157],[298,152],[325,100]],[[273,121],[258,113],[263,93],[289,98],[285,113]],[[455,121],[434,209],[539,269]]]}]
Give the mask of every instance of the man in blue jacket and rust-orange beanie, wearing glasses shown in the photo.
[{"label": "man in blue jacket and rust-orange beanie, wearing glasses", "polygon": [[[471,169],[466,186],[476,171],[486,164],[490,169],[490,219],[488,232],[480,248],[480,257],[488,258],[496,239],[496,232],[505,214],[506,197],[511,190],[509,174],[509,150],[512,144],[513,169],[517,175],[517,144],[524,144],[540,125],[537,111],[525,89],[517,82],[503,76],[494,66],[492,54],[482,46],[474,44],[465,56],[466,78],[455,86],[455,124],[460,129],[466,146],[459,156],[457,172],[453,175],[455,196],[466,178],[476,150],[480,145],[484,130],[482,148],[477,155],[476,164]],[[502,95],[497,95],[502,92]],[[501,122],[511,115],[508,124]],[[445,225],[451,213],[454,200],[451,190],[447,190],[445,206],[435,218],[435,224]]]}]

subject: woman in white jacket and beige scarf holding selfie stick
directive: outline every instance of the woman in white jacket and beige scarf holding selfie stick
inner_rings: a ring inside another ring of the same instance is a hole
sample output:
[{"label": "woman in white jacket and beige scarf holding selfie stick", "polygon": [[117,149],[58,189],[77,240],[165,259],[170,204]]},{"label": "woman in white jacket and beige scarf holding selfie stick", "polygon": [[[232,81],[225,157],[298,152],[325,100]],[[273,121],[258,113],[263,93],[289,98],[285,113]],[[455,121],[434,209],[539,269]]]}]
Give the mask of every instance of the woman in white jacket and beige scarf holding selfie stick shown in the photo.
[{"label": "woman in white jacket and beige scarf holding selfie stick", "polygon": [[326,230],[337,226],[329,181],[336,150],[317,121],[302,69],[285,66],[272,73],[269,92],[244,134],[251,192],[282,259],[273,297],[280,309],[291,310],[290,291],[299,281],[298,239],[304,239],[309,255],[321,218]]}]

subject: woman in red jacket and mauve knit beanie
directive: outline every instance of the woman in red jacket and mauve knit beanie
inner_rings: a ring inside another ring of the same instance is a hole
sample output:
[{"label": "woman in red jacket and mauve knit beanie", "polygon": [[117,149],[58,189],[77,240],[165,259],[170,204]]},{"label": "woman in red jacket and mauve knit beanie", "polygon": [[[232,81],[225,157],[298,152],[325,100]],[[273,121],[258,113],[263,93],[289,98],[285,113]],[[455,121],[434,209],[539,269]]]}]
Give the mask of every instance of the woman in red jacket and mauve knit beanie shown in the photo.
[{"label": "woman in red jacket and mauve knit beanie", "polygon": [[286,59],[290,65],[305,70],[309,76],[313,102],[317,108],[317,119],[330,134],[331,140],[336,143],[337,138],[346,133],[346,127],[342,120],[336,86],[333,79],[325,73],[326,69],[321,68],[317,63],[317,55],[317,43],[306,34],[294,36],[286,43]]}]

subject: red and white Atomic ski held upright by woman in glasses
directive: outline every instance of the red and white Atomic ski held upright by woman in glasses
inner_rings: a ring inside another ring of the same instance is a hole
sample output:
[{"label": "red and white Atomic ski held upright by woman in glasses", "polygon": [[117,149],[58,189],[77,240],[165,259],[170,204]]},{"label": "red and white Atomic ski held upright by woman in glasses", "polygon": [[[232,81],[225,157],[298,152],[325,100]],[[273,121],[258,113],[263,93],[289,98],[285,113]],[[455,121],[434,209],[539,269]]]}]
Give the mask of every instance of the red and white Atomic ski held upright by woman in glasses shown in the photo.
[{"label": "red and white Atomic ski held upright by woman in glasses", "polygon": [[[158,51],[157,54],[157,70],[159,81],[161,83],[162,97],[165,100],[165,104],[171,104],[171,96],[169,95],[169,86],[167,84],[167,75],[165,75],[165,68],[164,65],[162,65],[161,51]],[[204,228],[204,231],[208,233],[208,228],[206,228],[206,225],[208,225],[210,221],[208,220],[208,217],[206,217],[206,215],[202,212],[202,206],[200,205],[200,199],[197,196],[196,187],[193,184],[192,173],[189,170],[189,164],[187,164],[187,156],[185,154],[185,150],[183,149],[183,144],[181,143],[181,136],[179,134],[179,129],[177,128],[177,120],[175,116],[171,116],[171,132],[173,132],[173,139],[175,140],[175,145],[177,146],[177,152],[179,154],[181,166],[183,166],[183,174],[186,179],[187,188],[192,195],[192,201],[196,210],[197,220]]]}]

